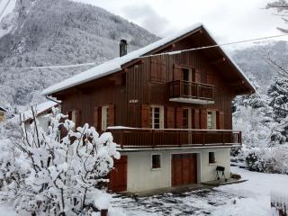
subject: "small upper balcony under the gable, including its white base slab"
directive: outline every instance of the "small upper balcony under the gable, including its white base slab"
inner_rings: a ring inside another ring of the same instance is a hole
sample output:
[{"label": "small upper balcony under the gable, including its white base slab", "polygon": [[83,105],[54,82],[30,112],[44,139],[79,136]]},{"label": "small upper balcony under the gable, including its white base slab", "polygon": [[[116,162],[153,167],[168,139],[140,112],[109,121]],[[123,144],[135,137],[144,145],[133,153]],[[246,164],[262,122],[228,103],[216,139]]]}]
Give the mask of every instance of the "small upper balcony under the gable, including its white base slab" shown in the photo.
[{"label": "small upper balcony under the gable, including its white base slab", "polygon": [[181,103],[214,103],[214,85],[176,80],[169,84],[169,101]]}]

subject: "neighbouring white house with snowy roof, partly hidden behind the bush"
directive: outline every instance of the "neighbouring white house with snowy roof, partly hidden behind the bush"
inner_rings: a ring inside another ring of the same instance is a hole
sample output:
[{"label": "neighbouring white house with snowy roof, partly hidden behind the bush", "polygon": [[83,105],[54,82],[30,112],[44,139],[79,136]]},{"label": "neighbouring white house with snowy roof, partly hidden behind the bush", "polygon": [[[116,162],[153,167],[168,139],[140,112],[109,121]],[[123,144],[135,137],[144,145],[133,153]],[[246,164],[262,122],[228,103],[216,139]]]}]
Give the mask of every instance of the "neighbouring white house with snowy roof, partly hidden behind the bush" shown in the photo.
[{"label": "neighbouring white house with snowy roof, partly hidden behind the bush", "polygon": [[[47,131],[49,127],[49,117],[52,112],[53,107],[59,107],[59,103],[48,101],[44,103],[40,103],[36,107],[33,107],[33,110],[35,111],[35,115],[37,117],[37,120],[39,121],[40,127]],[[31,124],[33,122],[33,114],[30,110],[27,110],[26,112],[21,113],[21,118],[25,126]]]}]

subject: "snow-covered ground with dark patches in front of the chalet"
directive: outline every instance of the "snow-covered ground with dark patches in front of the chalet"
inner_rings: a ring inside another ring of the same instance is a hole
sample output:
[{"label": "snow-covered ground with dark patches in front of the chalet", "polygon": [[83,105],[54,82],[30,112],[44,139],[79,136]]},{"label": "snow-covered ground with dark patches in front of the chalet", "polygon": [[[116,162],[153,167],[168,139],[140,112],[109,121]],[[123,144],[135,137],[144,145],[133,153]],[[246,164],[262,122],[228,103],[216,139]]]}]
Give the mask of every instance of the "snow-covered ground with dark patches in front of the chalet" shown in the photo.
[{"label": "snow-covered ground with dark patches in front of the chalet", "polygon": [[112,205],[123,208],[126,215],[213,215],[271,216],[270,192],[287,191],[288,175],[263,174],[231,167],[233,173],[248,179],[210,190],[173,195],[166,193],[135,201],[116,198]]}]

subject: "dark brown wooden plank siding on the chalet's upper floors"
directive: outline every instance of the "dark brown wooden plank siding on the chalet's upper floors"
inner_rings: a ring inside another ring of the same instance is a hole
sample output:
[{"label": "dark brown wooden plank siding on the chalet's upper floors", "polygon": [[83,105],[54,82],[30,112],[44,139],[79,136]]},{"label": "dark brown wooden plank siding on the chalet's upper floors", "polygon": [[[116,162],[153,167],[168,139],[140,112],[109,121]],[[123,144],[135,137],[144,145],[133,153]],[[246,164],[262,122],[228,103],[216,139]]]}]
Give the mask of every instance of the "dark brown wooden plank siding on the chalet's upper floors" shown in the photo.
[{"label": "dark brown wooden plank siding on the chalet's upper floors", "polygon": [[[198,46],[192,38],[187,38],[161,51],[189,49]],[[143,58],[121,72],[73,87],[55,94],[55,96],[62,100],[62,112],[81,111],[80,123],[88,122],[94,125],[95,121],[99,122],[99,108],[103,105],[110,105],[114,108],[114,125],[141,128],[143,127],[142,105],[154,104],[165,107],[165,128],[171,128],[173,125],[175,128],[181,128],[182,122],[179,120],[182,118],[181,109],[186,107],[192,108],[193,128],[205,129],[207,126],[201,118],[201,113],[206,110],[216,110],[224,115],[223,118],[221,117],[223,122],[219,128],[231,130],[231,100],[235,93],[229,85],[227,76],[224,76],[227,71],[220,71],[220,68],[211,64],[211,61],[212,58],[207,57],[201,50],[161,56],[152,60]],[[176,70],[182,66],[194,69],[197,82],[215,86],[213,104],[169,102],[167,83],[179,78],[177,75],[179,71]],[[161,73],[165,73],[165,75]],[[97,117],[95,116],[95,107],[98,107]],[[145,118],[147,118],[146,121],[149,121],[148,116]],[[149,123],[146,122],[145,126],[148,125]]]}]

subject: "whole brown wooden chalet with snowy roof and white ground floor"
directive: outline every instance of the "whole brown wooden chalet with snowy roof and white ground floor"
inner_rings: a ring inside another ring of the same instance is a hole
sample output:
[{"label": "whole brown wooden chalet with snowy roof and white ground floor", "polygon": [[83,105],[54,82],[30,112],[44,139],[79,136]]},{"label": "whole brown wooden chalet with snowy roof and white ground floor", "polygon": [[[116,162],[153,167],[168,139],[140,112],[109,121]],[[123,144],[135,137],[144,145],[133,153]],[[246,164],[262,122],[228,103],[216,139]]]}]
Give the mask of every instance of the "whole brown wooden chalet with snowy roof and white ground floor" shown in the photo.
[{"label": "whole brown wooden chalet with snowy roof and white ground floor", "polygon": [[[76,125],[112,132],[121,145],[110,179],[113,191],[139,192],[230,175],[231,101],[253,85],[202,23],[52,85]],[[197,49],[212,46],[209,49]],[[180,51],[190,49],[187,51]]]}]

